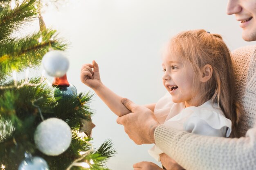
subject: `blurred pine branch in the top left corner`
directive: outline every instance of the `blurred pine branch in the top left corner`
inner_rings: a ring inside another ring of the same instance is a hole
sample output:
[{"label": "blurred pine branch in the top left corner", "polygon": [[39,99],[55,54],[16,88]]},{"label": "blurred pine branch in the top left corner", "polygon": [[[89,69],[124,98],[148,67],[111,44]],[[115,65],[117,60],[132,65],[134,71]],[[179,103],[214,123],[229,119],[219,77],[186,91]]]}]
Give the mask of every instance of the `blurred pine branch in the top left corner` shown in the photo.
[{"label": "blurred pine branch in the top left corner", "polygon": [[6,39],[11,33],[19,29],[22,24],[38,17],[38,9],[34,6],[36,0],[24,0],[11,10],[10,5],[0,11],[0,41]]}]

